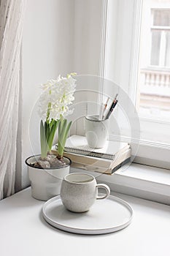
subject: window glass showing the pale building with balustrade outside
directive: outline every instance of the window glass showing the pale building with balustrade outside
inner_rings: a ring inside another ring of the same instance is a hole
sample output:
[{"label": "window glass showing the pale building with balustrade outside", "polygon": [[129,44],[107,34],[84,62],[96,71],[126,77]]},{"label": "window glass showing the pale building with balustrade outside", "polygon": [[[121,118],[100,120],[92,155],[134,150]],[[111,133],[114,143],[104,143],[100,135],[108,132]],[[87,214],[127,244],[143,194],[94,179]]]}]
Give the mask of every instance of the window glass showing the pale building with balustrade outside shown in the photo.
[{"label": "window glass showing the pale building with balustrade outside", "polygon": [[139,114],[169,121],[170,1],[143,1],[139,56]]}]

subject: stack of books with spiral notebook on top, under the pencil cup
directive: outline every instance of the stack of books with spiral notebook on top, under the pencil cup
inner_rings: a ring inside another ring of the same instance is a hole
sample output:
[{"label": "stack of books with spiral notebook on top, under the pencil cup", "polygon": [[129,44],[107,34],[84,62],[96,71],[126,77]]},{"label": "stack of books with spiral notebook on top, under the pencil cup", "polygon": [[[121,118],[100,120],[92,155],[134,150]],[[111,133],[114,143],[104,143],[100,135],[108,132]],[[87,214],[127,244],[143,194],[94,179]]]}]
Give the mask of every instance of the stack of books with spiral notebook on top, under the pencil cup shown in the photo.
[{"label": "stack of books with spiral notebook on top, under the pencil cup", "polygon": [[72,135],[66,140],[63,155],[72,160],[72,167],[112,174],[130,162],[131,148],[128,143],[110,140],[104,148],[90,148],[84,136]]}]

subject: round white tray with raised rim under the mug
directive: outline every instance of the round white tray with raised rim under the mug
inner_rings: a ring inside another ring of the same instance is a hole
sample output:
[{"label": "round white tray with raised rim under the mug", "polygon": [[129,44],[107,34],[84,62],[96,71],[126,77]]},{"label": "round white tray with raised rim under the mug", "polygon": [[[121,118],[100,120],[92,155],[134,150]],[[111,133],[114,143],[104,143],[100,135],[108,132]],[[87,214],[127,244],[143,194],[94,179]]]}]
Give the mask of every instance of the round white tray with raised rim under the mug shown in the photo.
[{"label": "round white tray with raised rim under the mug", "polygon": [[45,220],[60,230],[79,234],[112,233],[131,223],[131,206],[118,197],[109,195],[96,203],[85,213],[68,211],[61,202],[60,195],[48,200],[42,207]]}]

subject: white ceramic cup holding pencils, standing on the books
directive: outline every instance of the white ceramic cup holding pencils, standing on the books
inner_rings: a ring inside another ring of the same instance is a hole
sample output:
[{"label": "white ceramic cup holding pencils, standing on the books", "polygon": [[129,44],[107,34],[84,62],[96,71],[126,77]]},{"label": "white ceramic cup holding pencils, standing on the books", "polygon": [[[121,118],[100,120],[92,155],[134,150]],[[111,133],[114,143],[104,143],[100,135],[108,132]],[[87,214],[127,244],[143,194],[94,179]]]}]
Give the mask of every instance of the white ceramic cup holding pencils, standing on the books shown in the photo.
[{"label": "white ceramic cup holding pencils, standing on the books", "polygon": [[98,120],[98,117],[85,117],[85,135],[90,148],[103,148],[109,138],[109,119]]}]

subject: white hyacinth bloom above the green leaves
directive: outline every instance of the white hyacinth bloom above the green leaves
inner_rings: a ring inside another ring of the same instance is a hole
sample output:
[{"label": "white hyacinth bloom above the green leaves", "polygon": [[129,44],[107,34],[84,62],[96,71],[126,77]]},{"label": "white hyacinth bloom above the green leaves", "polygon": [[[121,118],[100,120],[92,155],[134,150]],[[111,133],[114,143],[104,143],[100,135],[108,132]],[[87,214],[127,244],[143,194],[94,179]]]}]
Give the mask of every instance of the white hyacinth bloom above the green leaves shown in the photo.
[{"label": "white hyacinth bloom above the green leaves", "polygon": [[58,120],[61,116],[64,118],[72,113],[69,105],[74,100],[76,88],[74,75],[76,74],[72,73],[66,78],[59,75],[56,80],[51,79],[42,84],[43,93],[39,99],[39,116],[42,120]]}]

